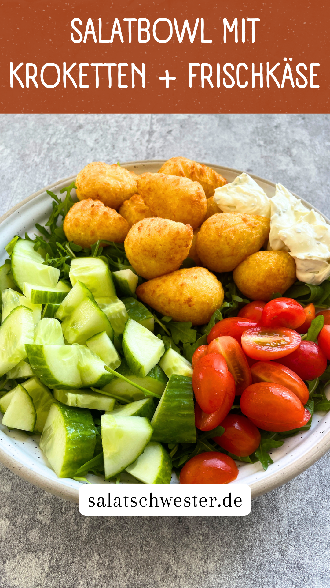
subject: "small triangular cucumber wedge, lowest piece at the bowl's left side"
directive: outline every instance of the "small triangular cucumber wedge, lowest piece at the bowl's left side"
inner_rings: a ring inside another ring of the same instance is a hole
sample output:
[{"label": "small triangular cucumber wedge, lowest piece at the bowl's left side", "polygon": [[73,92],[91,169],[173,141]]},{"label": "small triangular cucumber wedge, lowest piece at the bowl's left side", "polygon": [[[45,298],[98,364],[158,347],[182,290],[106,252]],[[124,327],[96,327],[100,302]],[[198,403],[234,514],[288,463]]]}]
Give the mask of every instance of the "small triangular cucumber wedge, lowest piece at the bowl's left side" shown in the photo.
[{"label": "small triangular cucumber wedge, lowest piece at the bowl's left side", "polygon": [[2,419],[2,425],[10,429],[32,432],[35,428],[36,410],[31,396],[19,384]]}]

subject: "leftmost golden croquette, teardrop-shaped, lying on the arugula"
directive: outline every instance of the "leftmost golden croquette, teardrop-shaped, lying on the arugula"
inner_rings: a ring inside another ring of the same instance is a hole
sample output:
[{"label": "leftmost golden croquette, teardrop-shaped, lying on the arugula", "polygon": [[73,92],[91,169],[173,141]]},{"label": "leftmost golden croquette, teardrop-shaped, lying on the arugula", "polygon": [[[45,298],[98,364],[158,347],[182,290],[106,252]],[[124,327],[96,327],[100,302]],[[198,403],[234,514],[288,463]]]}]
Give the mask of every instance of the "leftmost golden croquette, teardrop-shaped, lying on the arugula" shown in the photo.
[{"label": "leftmost golden croquette, teardrop-shaped, lying on the arugula", "polygon": [[129,223],[103,202],[89,198],[70,208],[63,229],[68,241],[80,247],[90,247],[102,239],[123,243],[129,232]]}]

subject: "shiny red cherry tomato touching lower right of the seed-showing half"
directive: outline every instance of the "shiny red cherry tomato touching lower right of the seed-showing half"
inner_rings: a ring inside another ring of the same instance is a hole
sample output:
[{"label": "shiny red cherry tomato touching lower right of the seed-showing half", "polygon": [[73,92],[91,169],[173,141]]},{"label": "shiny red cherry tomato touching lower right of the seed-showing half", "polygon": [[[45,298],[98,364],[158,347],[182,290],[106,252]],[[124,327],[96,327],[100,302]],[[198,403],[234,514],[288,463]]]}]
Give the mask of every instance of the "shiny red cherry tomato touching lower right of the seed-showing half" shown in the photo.
[{"label": "shiny red cherry tomato touching lower right of the seed-showing half", "polygon": [[292,369],[302,380],[314,380],[325,371],[326,356],[316,343],[302,341],[293,353],[279,359],[278,363]]}]

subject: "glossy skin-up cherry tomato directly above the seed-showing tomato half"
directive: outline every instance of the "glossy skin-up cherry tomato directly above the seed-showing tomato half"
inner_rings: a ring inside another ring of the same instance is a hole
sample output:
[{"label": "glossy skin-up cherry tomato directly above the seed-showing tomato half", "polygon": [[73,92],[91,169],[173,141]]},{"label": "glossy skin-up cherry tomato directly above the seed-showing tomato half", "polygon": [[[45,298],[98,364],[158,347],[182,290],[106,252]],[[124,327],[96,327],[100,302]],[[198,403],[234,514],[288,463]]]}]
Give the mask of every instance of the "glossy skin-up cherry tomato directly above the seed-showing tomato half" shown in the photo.
[{"label": "glossy skin-up cherry tomato directly above the seed-showing tomato half", "polygon": [[297,329],[305,321],[305,313],[301,304],[293,298],[274,298],[262,310],[262,325],[278,329]]}]

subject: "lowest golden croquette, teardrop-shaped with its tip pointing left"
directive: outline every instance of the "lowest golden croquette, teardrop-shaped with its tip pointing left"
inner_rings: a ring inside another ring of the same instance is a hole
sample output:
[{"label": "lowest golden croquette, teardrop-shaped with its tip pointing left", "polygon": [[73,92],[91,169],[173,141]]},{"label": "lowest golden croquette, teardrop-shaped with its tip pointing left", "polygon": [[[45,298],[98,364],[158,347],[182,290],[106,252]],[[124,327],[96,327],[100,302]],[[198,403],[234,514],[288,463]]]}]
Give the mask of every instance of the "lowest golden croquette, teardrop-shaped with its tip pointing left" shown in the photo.
[{"label": "lowest golden croquette, teardrop-shaped with its tip pointing left", "polygon": [[136,294],[163,315],[193,325],[207,323],[224,299],[221,283],[205,268],[179,269],[154,278],[138,286]]}]

